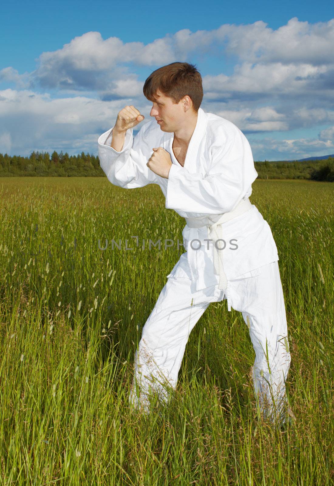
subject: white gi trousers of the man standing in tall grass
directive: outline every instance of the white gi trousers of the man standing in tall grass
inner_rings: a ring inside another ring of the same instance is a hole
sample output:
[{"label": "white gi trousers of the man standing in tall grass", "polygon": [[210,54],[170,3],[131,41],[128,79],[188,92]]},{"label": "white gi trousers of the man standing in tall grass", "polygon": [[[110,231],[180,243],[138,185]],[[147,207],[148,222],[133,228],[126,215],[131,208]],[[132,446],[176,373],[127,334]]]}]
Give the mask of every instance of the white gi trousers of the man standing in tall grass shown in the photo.
[{"label": "white gi trousers of the man standing in tall grass", "polygon": [[[200,316],[210,302],[226,299],[218,285],[191,293],[190,283],[189,278],[168,278],[143,327],[129,402],[147,413],[150,392],[158,392],[167,401],[175,389],[185,345]],[[232,307],[242,312],[249,328],[255,351],[253,387],[260,411],[271,421],[276,416],[285,422],[285,379],[291,358],[278,261],[262,266],[260,275],[228,280],[228,293]]]}]

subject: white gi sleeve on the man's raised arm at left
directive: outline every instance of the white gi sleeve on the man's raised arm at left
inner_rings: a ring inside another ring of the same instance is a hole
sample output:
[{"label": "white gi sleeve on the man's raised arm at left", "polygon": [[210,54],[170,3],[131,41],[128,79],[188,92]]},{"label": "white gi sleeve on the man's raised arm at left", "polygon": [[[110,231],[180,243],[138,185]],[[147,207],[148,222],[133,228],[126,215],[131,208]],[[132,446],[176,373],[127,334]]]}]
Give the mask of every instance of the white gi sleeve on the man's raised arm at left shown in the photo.
[{"label": "white gi sleeve on the man's raised arm at left", "polygon": [[147,184],[158,184],[156,174],[146,165],[153,150],[149,148],[145,138],[145,125],[135,137],[132,128],[126,131],[120,152],[110,146],[115,125],[98,139],[100,166],[115,186],[134,189]]}]

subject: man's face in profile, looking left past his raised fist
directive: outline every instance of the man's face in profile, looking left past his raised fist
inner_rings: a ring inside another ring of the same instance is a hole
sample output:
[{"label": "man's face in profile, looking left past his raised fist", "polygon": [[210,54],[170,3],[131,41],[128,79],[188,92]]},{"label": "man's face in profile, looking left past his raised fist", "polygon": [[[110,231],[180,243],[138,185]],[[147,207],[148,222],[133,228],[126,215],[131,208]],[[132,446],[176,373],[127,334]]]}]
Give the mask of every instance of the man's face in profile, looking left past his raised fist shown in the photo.
[{"label": "man's face in profile, looking left past his raised fist", "polygon": [[157,120],[157,124],[160,125],[163,132],[175,132],[184,121],[183,100],[174,104],[173,100],[165,96],[159,89],[155,98],[156,101],[152,102],[150,116]]}]

